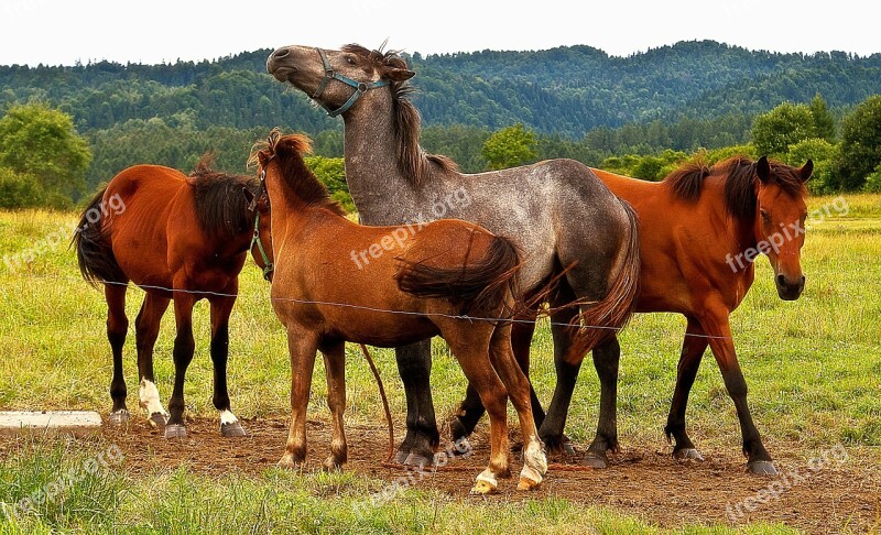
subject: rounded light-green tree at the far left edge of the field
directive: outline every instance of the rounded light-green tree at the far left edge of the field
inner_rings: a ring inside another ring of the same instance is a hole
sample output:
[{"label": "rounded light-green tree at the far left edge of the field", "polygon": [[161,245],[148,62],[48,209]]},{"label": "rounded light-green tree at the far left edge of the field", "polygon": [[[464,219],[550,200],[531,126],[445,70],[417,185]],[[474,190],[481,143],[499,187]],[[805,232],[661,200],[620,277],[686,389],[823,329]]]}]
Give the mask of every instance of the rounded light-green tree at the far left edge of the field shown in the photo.
[{"label": "rounded light-green tree at the far left edge of the field", "polygon": [[83,193],[91,152],[70,116],[39,102],[12,106],[0,119],[0,166],[36,178],[51,205]]}]

